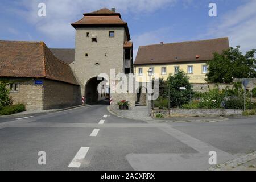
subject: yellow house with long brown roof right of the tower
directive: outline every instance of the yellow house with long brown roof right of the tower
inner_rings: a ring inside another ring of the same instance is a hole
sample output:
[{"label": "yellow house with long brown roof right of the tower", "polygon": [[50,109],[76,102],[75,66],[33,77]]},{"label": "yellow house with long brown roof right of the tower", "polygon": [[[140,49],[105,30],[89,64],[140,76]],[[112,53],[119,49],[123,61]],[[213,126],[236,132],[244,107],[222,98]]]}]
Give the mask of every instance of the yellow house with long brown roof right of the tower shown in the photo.
[{"label": "yellow house with long brown roof right of the tower", "polygon": [[213,59],[213,53],[222,53],[229,48],[228,38],[200,40],[140,46],[134,62],[136,80],[149,80],[148,70],[153,71],[151,78],[167,79],[170,74],[183,70],[193,84],[205,83],[207,61]]}]

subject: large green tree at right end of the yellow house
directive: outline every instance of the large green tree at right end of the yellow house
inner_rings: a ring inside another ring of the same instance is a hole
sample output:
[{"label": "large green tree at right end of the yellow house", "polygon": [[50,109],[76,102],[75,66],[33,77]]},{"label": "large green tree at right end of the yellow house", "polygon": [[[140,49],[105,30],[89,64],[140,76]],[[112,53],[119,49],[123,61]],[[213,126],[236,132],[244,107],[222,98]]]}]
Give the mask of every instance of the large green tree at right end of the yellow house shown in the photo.
[{"label": "large green tree at right end of the yellow house", "polygon": [[213,59],[208,65],[208,82],[230,83],[233,78],[255,78],[256,77],[256,59],[254,57],[256,50],[252,49],[245,55],[240,52],[240,46],[230,47],[221,54],[213,53]]}]

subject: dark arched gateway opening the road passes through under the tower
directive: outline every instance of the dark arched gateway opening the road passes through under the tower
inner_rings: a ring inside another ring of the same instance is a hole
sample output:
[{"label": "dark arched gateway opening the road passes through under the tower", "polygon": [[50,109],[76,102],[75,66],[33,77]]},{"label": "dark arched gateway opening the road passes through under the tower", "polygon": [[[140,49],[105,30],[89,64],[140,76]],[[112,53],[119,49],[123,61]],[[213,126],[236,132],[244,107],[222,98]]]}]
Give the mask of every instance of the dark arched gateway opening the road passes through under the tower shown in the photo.
[{"label": "dark arched gateway opening the road passes through under the tower", "polygon": [[[93,77],[86,82],[85,85],[85,103],[86,104],[93,104],[99,101],[104,101],[109,98],[108,88],[106,88],[106,84],[102,84],[102,81],[106,80],[102,78],[98,80],[98,77]],[[98,85],[101,84],[102,92],[98,92]]]}]

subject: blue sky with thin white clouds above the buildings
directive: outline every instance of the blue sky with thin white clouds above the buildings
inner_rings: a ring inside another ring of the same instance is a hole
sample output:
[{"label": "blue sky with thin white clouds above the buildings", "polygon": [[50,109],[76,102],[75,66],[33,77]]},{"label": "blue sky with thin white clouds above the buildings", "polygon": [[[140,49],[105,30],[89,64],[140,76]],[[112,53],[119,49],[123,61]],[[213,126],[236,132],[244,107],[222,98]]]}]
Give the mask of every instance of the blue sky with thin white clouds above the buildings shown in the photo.
[{"label": "blue sky with thin white clouds above the buildings", "polygon": [[[46,17],[38,4],[46,3]],[[208,15],[217,4],[217,17]],[[134,52],[148,44],[228,36],[243,52],[256,48],[256,0],[19,0],[0,1],[0,39],[44,41],[51,48],[74,48],[70,23],[82,14],[115,7],[130,29]]]}]

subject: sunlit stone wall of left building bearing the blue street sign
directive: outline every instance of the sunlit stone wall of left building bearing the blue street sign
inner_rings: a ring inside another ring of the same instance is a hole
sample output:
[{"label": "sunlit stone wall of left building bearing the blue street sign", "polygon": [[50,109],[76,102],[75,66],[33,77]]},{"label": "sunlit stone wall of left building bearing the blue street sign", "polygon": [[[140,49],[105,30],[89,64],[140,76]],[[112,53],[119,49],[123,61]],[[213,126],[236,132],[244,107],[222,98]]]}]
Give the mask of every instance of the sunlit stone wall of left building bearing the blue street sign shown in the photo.
[{"label": "sunlit stone wall of left building bearing the blue street sign", "polygon": [[20,82],[18,92],[10,92],[13,104],[24,104],[26,110],[43,110],[43,85],[35,85],[33,79],[14,80]]}]

